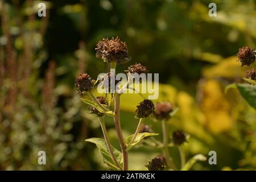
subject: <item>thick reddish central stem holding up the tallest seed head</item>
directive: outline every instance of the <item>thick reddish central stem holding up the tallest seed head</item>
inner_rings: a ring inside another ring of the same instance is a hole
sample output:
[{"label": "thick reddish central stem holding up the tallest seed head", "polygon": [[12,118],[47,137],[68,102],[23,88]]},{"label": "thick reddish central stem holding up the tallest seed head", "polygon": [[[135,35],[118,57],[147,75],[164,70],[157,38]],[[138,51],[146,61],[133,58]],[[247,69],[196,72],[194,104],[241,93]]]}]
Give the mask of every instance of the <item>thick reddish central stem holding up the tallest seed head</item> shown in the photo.
[{"label": "thick reddish central stem holding up the tallest seed head", "polygon": [[[110,63],[110,69],[115,69],[117,63],[112,61]],[[126,151],[126,145],[125,145],[125,140],[123,139],[123,134],[122,134],[122,129],[121,129],[121,124],[120,124],[120,117],[119,117],[119,112],[120,112],[120,94],[115,92],[114,96],[114,122],[115,122],[115,130],[117,131],[117,136],[118,140],[122,149],[122,154],[123,154],[123,171],[128,170],[128,154]]]}]

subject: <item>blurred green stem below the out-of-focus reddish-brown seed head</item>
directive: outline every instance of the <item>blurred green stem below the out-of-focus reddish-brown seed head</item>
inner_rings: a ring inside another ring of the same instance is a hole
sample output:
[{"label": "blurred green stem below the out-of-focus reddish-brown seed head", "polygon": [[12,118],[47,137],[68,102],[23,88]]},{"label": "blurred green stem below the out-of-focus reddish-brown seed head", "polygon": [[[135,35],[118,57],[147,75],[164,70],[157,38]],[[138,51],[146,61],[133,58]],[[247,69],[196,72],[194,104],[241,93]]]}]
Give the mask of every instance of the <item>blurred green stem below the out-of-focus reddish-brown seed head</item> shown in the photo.
[{"label": "blurred green stem below the out-of-focus reddish-brown seed head", "polygon": [[168,138],[169,138],[168,125],[167,125],[167,122],[164,120],[162,121],[162,130],[163,130],[163,145],[164,145],[163,152],[164,152],[164,156],[166,158],[167,166],[176,170],[176,167],[175,167],[174,163],[172,162],[172,158],[170,156],[169,149],[168,149]]}]

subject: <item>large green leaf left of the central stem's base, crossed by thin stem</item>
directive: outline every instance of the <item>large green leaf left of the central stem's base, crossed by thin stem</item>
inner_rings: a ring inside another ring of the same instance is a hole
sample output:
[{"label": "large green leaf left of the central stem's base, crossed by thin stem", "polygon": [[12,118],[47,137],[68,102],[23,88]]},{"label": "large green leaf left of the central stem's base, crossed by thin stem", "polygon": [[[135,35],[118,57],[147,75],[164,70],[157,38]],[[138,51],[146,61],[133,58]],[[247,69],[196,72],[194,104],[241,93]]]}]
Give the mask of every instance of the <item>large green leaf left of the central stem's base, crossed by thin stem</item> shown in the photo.
[{"label": "large green leaf left of the central stem's base, crossed by thin stem", "polygon": [[[100,150],[100,153],[103,157],[104,163],[107,164],[110,168],[112,168],[114,170],[119,170],[119,168],[115,165],[115,163],[109,153],[108,146],[104,139],[89,138],[89,139],[86,139],[85,141],[96,144],[96,146],[98,147],[98,150]],[[113,149],[115,157],[117,158],[117,162],[121,165],[122,164],[122,152],[118,151],[113,146],[112,146],[112,149]]]}]

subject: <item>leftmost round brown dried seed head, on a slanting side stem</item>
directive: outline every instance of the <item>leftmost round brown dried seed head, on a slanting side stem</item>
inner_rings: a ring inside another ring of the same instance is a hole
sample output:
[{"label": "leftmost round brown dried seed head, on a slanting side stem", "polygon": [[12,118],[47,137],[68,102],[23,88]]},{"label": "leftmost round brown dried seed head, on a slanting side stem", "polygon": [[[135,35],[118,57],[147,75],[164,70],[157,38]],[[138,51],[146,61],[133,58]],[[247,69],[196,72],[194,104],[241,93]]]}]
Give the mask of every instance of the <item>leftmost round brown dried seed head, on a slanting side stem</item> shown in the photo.
[{"label": "leftmost round brown dried seed head, on a slanting side stem", "polygon": [[90,75],[87,73],[82,73],[76,78],[75,90],[80,94],[84,91],[86,92],[92,90],[94,87],[94,82],[95,80],[93,80]]}]

